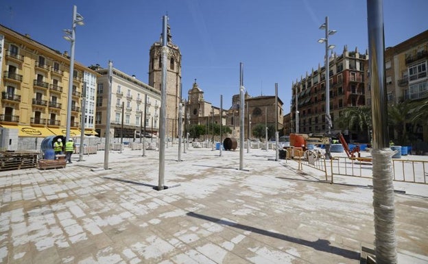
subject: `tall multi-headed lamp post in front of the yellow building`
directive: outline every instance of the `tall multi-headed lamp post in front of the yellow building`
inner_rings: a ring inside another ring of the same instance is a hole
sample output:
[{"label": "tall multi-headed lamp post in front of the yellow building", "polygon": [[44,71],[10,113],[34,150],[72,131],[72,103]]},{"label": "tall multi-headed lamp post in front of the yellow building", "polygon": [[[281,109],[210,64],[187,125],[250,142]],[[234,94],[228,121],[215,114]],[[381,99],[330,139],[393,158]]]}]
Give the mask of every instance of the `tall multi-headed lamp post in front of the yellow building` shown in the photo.
[{"label": "tall multi-headed lamp post in front of the yellow building", "polygon": [[[75,27],[76,25],[84,25],[83,16],[78,13],[78,7],[73,5],[73,21],[71,29],[64,29],[64,38],[71,43],[71,57],[70,57],[70,75],[69,75],[69,95],[67,97],[67,128],[65,138],[66,141],[70,138],[71,127],[71,97],[73,96],[73,71],[74,71],[74,46],[75,46]],[[83,131],[82,131],[83,133]]]}]

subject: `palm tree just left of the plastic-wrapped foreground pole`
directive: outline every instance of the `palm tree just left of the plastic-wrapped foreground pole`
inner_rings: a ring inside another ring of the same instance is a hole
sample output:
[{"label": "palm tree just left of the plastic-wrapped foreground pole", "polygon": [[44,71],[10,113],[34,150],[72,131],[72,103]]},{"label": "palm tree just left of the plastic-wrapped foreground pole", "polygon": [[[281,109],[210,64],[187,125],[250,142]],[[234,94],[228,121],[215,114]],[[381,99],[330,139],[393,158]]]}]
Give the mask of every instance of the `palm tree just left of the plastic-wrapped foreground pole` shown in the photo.
[{"label": "palm tree just left of the plastic-wrapped foreground pole", "polygon": [[370,141],[370,130],[372,130],[372,108],[370,106],[348,107],[343,115],[337,119],[340,128],[355,130],[357,133],[366,133]]}]

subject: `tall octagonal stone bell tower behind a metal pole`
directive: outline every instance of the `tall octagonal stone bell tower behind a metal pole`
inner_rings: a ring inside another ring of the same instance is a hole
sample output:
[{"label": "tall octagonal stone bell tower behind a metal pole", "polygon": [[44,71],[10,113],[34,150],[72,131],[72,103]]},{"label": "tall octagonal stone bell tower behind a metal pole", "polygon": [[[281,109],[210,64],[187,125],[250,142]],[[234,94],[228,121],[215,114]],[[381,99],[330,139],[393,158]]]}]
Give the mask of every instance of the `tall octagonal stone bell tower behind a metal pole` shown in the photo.
[{"label": "tall octagonal stone bell tower behind a metal pole", "polygon": [[[167,25],[167,137],[178,136],[178,104],[180,104],[181,85],[181,53],[177,45],[172,43],[171,28]],[[149,85],[157,90],[162,88],[162,34],[158,42],[150,47]]]}]

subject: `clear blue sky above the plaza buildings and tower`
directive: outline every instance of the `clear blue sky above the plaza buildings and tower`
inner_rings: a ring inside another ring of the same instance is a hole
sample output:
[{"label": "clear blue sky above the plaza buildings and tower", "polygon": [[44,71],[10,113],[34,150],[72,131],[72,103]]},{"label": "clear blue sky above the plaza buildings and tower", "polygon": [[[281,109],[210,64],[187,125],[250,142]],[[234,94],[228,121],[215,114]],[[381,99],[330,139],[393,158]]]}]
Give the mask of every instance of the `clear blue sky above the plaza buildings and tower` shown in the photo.
[{"label": "clear blue sky above the plaza buildings and tower", "polygon": [[[229,108],[243,84],[252,96],[278,96],[289,112],[292,82],[323,64],[324,37],[318,27],[329,16],[329,38],[341,54],[344,45],[368,49],[364,0],[0,0],[0,23],[52,49],[70,51],[62,29],[71,27],[73,5],[84,16],[76,29],[75,60],[100,64],[148,82],[150,46],[159,40],[162,16],[169,16],[173,42],[182,53],[182,87],[187,97],[194,79],[204,99]],[[385,47],[428,29],[428,1],[385,0]]]}]

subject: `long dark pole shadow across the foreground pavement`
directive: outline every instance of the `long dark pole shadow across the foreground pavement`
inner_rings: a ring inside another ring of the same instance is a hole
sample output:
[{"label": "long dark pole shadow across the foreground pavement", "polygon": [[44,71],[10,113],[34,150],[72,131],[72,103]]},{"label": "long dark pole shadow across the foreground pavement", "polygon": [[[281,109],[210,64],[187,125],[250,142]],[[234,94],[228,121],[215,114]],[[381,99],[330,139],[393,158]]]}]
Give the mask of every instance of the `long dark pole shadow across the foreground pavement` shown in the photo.
[{"label": "long dark pole shadow across the foreground pavement", "polygon": [[250,232],[254,232],[260,235],[265,235],[265,236],[269,236],[269,237],[274,237],[276,239],[281,239],[284,241],[289,241],[292,243],[298,243],[300,245],[306,245],[310,248],[313,248],[314,250],[318,250],[318,251],[324,251],[324,252],[328,252],[328,253],[332,253],[332,254],[336,254],[339,256],[343,256],[346,259],[355,259],[355,260],[359,260],[359,252],[355,252],[352,250],[346,250],[344,248],[337,248],[334,245],[330,245],[330,241],[326,240],[326,239],[318,239],[317,241],[308,241],[305,239],[298,239],[296,237],[289,237],[287,235],[282,235],[282,234],[278,234],[276,232],[270,232],[267,230],[263,230],[260,228],[254,228],[252,226],[246,226],[246,225],[242,225],[242,224],[237,224],[234,223],[232,221],[226,221],[226,220],[222,220],[222,219],[218,219],[215,217],[209,217],[208,215],[200,215],[198,213],[193,213],[193,212],[189,212],[187,213],[187,215],[189,215],[190,217],[196,217],[199,219],[204,219],[207,221],[212,221],[214,223],[217,224],[222,224],[225,226],[230,226],[233,228],[239,228],[241,230],[246,230],[246,231],[250,231]]}]

